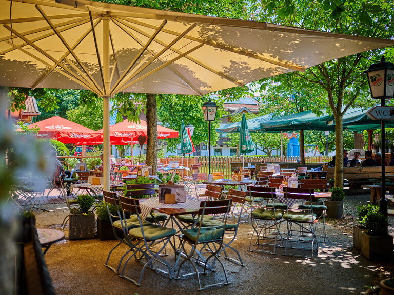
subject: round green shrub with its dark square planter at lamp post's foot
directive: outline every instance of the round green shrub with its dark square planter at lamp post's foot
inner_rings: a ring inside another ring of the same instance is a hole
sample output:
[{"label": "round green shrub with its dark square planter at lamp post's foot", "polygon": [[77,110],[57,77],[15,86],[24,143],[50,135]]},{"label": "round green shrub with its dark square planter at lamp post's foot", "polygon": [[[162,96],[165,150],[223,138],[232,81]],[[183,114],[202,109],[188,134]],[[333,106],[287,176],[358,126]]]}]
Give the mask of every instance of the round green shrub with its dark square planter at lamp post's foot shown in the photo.
[{"label": "round green shrub with its dark square planter at lamp post's foot", "polygon": [[361,234],[361,254],[367,259],[391,259],[393,238],[387,235],[387,218],[377,210],[372,210],[365,217],[367,231]]}]

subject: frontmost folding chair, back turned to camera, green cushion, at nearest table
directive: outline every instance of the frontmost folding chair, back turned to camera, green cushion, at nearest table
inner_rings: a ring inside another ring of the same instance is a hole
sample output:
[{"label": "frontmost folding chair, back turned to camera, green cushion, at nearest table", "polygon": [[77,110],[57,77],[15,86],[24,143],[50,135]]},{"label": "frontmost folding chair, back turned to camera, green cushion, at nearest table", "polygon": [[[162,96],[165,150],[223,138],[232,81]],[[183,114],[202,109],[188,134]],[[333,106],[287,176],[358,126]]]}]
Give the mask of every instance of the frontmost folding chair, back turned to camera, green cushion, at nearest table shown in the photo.
[{"label": "frontmost folding chair, back turned to camera, green cushion, at nearest table", "polygon": [[[184,257],[186,254],[186,258],[181,262],[176,272],[176,279],[180,279],[190,275],[196,275],[198,282],[199,282],[199,289],[204,290],[208,287],[218,286],[218,285],[227,285],[230,284],[227,278],[227,272],[223,265],[223,262],[219,258],[219,253],[223,248],[223,237],[225,233],[226,223],[227,223],[227,213],[230,210],[231,200],[218,200],[218,201],[208,201],[208,202],[201,202],[200,210],[199,210],[199,217],[197,218],[196,222],[194,223],[191,229],[186,229],[182,231],[182,234],[179,235],[180,244],[180,251],[178,256],[176,257],[176,262],[174,269],[178,265],[180,258]],[[216,227],[203,227],[202,222],[204,220],[204,215],[206,214],[223,214],[223,227],[216,228]],[[185,245],[191,246],[190,251],[187,251]],[[205,252],[202,250],[204,249]],[[203,258],[203,254],[208,255],[206,259]],[[204,287],[201,286],[200,275],[206,274],[207,267],[211,269],[212,266],[208,264],[209,260],[213,258],[213,265],[215,261],[219,261],[220,265],[223,268],[225,281],[213,283],[209,285],[205,285]],[[200,272],[194,263],[193,260],[200,261],[204,263],[204,271]],[[187,273],[180,276],[180,271],[184,263],[188,261],[193,266],[195,272]]]}]

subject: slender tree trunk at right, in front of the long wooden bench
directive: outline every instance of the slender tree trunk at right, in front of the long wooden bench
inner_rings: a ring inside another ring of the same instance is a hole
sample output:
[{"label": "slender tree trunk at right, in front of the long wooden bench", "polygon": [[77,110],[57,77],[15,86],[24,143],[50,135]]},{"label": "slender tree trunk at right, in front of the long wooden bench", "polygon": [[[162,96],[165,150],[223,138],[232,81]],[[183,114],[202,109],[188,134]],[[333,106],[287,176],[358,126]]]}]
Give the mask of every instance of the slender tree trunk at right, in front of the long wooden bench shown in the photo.
[{"label": "slender tree trunk at right, in front of the long wooden bench", "polygon": [[335,184],[336,187],[343,187],[343,115],[339,113],[335,116]]}]

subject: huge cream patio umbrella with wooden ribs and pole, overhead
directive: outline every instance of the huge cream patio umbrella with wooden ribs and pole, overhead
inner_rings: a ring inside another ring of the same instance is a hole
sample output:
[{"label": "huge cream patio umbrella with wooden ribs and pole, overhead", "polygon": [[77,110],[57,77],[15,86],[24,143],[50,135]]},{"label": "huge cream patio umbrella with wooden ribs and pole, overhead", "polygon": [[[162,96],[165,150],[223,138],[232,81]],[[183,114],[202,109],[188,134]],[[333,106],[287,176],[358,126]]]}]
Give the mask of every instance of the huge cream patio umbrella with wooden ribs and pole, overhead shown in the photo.
[{"label": "huge cream patio umbrella with wooden ribs and pole, overhead", "polygon": [[0,86],[204,95],[394,40],[85,0],[0,0]]}]

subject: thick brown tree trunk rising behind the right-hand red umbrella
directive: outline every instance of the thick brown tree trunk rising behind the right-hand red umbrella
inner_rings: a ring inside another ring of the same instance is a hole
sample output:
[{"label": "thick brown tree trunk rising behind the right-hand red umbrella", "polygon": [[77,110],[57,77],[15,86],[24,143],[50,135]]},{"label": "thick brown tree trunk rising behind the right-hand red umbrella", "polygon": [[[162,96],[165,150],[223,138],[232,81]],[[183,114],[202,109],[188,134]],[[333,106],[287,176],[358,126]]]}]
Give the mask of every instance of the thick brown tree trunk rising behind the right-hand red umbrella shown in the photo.
[{"label": "thick brown tree trunk rising behind the right-hand red umbrella", "polygon": [[156,94],[146,95],[146,164],[152,166],[152,174],[157,174],[157,103]]}]

